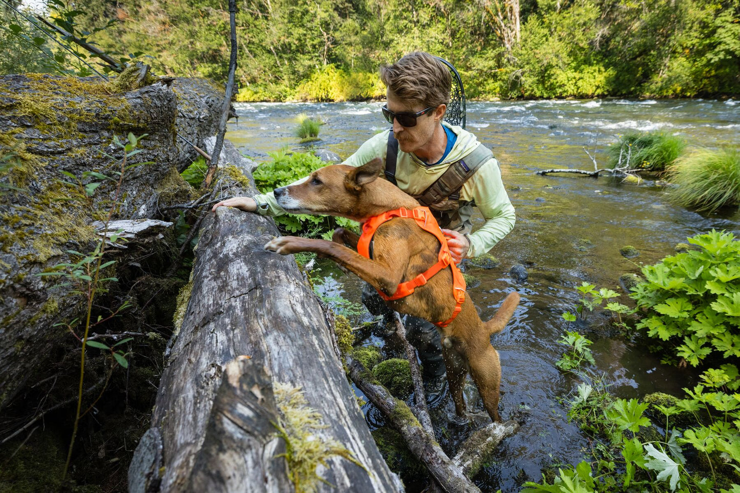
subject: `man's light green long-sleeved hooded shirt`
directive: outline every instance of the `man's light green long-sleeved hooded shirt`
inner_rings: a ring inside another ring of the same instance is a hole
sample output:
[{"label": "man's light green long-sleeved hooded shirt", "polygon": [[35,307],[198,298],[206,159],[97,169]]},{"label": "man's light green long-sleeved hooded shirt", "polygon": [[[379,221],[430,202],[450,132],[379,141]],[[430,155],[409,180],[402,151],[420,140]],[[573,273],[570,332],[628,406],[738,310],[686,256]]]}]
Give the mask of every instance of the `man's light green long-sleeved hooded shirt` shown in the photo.
[{"label": "man's light green long-sleeved hooded shirt", "polygon": [[[457,135],[457,140],[450,150],[445,160],[431,167],[427,167],[423,161],[411,152],[398,150],[396,160],[396,184],[400,190],[410,194],[418,195],[426,190],[437,178],[450,167],[455,161],[468,155],[477,146],[482,145],[472,133],[463,130],[462,127],[445,126]],[[388,132],[386,130],[374,135],[368,141],[360,146],[357,152],[349,156],[343,164],[351,166],[362,166],[372,161],[374,158],[386,161],[386,150],[388,147]],[[295,184],[306,180],[301,178]],[[258,204],[258,213],[262,215],[283,215],[285,210],[277,205],[275,195],[272,192],[255,195],[255,201]],[[501,171],[495,158],[491,158],[474,173],[471,178],[462,186],[460,190],[461,201],[475,201],[476,206],[485,218],[485,224],[480,229],[468,235],[470,240],[470,249],[467,257],[477,257],[488,252],[497,244],[508,232],[514,228],[516,221],[514,215],[514,206],[511,205],[503,182],[501,181]]]}]

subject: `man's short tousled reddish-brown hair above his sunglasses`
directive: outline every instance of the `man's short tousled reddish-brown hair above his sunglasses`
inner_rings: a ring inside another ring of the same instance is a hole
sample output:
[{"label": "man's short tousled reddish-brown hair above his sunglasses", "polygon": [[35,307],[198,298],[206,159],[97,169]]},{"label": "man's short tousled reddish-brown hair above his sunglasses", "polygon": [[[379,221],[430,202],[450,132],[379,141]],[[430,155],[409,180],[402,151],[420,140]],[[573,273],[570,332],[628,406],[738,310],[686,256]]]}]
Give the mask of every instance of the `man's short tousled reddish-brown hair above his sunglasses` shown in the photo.
[{"label": "man's short tousled reddish-brown hair above his sunglasses", "polygon": [[449,104],[452,76],[441,61],[414,51],[392,65],[380,67],[380,80],[399,98],[424,107]]}]

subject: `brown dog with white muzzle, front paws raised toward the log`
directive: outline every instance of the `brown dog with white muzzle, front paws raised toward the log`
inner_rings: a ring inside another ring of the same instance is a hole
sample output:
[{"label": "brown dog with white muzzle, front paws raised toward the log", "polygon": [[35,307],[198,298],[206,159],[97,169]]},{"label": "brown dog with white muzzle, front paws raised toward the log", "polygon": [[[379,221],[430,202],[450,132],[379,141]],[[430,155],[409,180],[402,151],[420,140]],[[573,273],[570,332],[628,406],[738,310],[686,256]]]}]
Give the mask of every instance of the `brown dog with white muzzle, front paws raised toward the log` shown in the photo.
[{"label": "brown dog with white muzzle, front paws raised toward the log", "polygon": [[[297,214],[327,214],[364,222],[374,215],[400,207],[414,209],[419,203],[389,181],[376,179],[383,169],[380,159],[361,167],[336,164],[314,171],[301,184],[275,190],[280,207]],[[375,289],[392,295],[398,284],[413,279],[437,263],[440,242],[417,226],[414,219],[394,218],[378,227],[373,237],[373,258],[357,248],[359,236],[343,228],[334,231],[333,241],[283,236],[269,241],[265,249],[288,255],[316,252],[351,270]],[[391,309],[427,321],[446,321],[455,307],[452,272],[448,266],[418,287],[412,295],[386,302]],[[462,311],[448,326],[440,328],[447,379],[457,415],[465,415],[462,387],[468,370],[478,387],[483,405],[499,421],[501,364],[491,335],[501,332],[519,304],[516,292],[509,294],[494,318],[482,322],[473,303],[466,299]]]}]

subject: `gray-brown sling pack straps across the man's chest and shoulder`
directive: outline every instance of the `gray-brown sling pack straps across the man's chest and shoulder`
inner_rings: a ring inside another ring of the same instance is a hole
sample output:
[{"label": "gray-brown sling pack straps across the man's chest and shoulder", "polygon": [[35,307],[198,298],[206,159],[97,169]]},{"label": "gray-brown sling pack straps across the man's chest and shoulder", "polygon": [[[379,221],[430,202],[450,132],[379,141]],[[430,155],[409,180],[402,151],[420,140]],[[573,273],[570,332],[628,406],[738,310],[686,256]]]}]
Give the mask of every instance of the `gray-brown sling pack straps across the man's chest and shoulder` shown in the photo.
[{"label": "gray-brown sling pack straps across the man's chest and shoulder", "polygon": [[[393,132],[388,133],[388,150],[386,152],[386,178],[392,184],[396,184],[396,161],[398,156],[398,141],[393,136]],[[460,199],[460,189],[465,181],[468,181],[477,170],[486,161],[494,157],[483,144],[476,147],[465,158],[455,161],[448,167],[440,178],[437,178],[420,195],[414,195],[414,198],[423,206],[434,206],[444,201],[457,201]],[[445,207],[446,208],[446,207]]]}]

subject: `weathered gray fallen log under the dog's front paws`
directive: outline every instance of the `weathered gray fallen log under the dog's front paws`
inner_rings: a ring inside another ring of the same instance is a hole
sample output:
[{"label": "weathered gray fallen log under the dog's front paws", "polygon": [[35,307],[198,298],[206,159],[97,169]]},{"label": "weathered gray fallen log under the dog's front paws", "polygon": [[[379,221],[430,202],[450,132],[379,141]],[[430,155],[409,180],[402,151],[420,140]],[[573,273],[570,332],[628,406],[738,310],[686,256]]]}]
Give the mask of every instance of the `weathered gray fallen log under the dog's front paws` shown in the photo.
[{"label": "weathered gray fallen log under the dog's front paws", "polygon": [[[227,162],[231,164],[225,165]],[[256,192],[249,171],[239,168],[243,161],[228,141],[220,163],[215,186],[222,195]],[[161,435],[164,462],[158,470],[163,474],[149,484],[159,481],[160,492],[188,491],[193,486],[191,472],[201,468],[200,461],[208,457],[207,466],[203,466],[206,469],[243,478],[232,488],[222,484],[209,491],[266,491],[262,472],[250,469],[250,464],[264,466],[283,459],[266,457],[262,446],[236,446],[233,433],[248,432],[228,432],[223,409],[237,403],[223,402],[219,390],[230,362],[249,356],[255,365],[266,369],[273,385],[302,389],[308,406],[316,410],[312,417],[325,426],[307,431],[306,440],[338,443],[349,451],[349,455],[320,457],[326,466],[317,461],[313,470],[326,483],[317,483],[317,491],[401,491],[400,481],[377,450],[334,356],[320,303],[292,256],[263,249],[278,234],[271,218],[228,207],[217,209],[203,221],[192,284],[181,297],[181,326],[170,343],[152,415],[152,427]],[[235,399],[239,395],[232,392]],[[219,431],[209,424],[214,420],[224,423]],[[237,421],[232,423],[238,426]],[[277,427],[261,429],[260,443],[268,443],[277,432]],[[223,454],[207,450],[223,451],[232,445],[235,448],[230,449],[226,472],[218,465]],[[139,447],[134,460],[140,455],[152,456],[151,447]],[[296,472],[290,472],[293,479]],[[146,469],[140,474],[146,474]],[[147,491],[147,486],[138,491]]]}]

